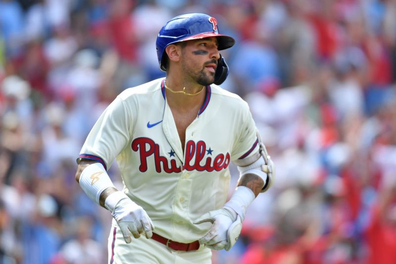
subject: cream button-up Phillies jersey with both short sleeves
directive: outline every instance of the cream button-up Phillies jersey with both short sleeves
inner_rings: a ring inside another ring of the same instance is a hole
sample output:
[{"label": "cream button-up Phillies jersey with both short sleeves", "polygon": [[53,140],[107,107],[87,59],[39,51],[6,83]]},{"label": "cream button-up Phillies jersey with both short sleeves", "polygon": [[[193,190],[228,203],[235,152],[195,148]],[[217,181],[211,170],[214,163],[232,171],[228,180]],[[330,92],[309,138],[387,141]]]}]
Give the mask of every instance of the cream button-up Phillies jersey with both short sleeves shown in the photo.
[{"label": "cream button-up Phillies jersey with both short sleeves", "polygon": [[245,101],[210,85],[183,153],[164,80],[123,91],[99,117],[80,158],[105,168],[115,159],[123,191],[147,211],[153,231],[189,243],[211,226],[194,220],[226,202],[230,162],[257,155],[257,129]]}]

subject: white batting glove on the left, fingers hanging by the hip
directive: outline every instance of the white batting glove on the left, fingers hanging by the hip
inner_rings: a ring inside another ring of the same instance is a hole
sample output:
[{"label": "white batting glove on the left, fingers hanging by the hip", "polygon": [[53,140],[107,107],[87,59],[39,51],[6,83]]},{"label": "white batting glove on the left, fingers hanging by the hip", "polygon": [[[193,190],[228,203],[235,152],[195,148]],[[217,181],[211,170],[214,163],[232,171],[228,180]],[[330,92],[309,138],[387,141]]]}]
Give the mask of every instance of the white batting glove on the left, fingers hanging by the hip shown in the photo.
[{"label": "white batting glove on the left, fingers hanging by the hip", "polygon": [[104,206],[117,221],[126,243],[132,242],[131,233],[135,238],[143,233],[146,238],[152,236],[154,225],[147,212],[125,193],[117,191],[110,194],[104,201]]}]

